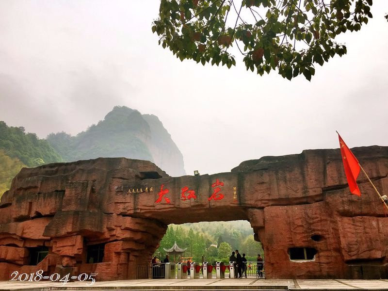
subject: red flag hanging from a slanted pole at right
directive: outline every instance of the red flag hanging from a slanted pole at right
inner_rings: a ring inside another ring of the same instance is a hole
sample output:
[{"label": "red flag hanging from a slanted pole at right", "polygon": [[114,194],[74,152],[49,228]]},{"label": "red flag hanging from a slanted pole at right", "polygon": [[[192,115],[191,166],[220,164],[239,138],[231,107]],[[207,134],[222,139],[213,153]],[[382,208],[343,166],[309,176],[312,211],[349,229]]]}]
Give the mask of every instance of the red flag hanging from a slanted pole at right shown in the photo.
[{"label": "red flag hanging from a slanted pole at right", "polygon": [[[338,132],[337,132],[338,133]],[[341,156],[343,167],[345,169],[346,179],[348,180],[350,193],[360,196],[361,192],[358,189],[356,179],[360,173],[360,165],[355,155],[350,151],[349,147],[346,146],[338,133],[339,147],[341,149]]]}]

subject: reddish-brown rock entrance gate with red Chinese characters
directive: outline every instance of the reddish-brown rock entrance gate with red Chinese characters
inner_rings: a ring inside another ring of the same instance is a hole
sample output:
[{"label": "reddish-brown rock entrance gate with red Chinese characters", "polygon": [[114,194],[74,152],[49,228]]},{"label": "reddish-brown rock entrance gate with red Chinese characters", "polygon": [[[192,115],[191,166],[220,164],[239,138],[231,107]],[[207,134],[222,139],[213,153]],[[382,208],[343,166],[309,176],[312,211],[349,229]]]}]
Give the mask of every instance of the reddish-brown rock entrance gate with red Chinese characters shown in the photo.
[{"label": "reddish-brown rock entrance gate with red Chinese characters", "polygon": [[[388,147],[353,152],[386,194]],[[237,219],[248,220],[263,243],[267,278],[387,278],[388,218],[362,174],[358,184],[361,197],[349,193],[337,149],[178,178],[125,158],[23,168],[0,202],[0,279],[40,269],[136,278],[168,224]],[[87,261],[96,244],[104,250],[99,263]],[[42,246],[48,256],[28,265],[33,248]],[[316,254],[294,260],[291,248]]]}]

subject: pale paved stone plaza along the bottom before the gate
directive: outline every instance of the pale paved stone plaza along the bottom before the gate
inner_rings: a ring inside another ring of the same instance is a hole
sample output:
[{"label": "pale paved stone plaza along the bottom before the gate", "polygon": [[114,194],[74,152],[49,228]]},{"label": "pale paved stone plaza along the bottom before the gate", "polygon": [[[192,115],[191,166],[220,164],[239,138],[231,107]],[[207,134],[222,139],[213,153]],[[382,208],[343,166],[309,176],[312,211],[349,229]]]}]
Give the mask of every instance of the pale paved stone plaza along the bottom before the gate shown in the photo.
[{"label": "pale paved stone plaza along the bottom before the gate", "polygon": [[95,282],[10,282],[0,290],[388,290],[388,280],[144,279]]}]

